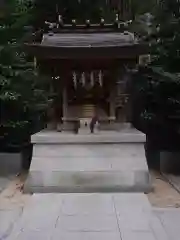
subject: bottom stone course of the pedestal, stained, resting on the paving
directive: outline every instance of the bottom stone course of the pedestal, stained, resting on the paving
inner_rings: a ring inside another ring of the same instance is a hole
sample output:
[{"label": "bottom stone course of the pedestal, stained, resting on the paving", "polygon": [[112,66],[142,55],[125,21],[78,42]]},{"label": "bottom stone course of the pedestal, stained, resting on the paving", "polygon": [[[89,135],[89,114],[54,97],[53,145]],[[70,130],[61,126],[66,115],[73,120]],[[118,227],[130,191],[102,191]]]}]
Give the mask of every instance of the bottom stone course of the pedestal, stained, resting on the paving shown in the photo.
[{"label": "bottom stone course of the pedestal, stained, resting on the paving", "polygon": [[148,172],[31,171],[25,193],[150,192]]}]

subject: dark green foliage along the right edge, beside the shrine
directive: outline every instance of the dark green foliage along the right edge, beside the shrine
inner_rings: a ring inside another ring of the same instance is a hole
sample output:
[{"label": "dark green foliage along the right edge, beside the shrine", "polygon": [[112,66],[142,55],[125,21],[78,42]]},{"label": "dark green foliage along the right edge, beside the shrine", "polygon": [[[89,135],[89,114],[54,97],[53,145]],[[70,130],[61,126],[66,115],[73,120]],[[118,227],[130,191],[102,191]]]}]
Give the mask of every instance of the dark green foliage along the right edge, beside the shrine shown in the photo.
[{"label": "dark green foliage along the right edge, beside the shrine", "polygon": [[180,2],[157,1],[154,17],[153,29],[147,36],[151,64],[134,76],[134,124],[148,135],[179,139]]}]

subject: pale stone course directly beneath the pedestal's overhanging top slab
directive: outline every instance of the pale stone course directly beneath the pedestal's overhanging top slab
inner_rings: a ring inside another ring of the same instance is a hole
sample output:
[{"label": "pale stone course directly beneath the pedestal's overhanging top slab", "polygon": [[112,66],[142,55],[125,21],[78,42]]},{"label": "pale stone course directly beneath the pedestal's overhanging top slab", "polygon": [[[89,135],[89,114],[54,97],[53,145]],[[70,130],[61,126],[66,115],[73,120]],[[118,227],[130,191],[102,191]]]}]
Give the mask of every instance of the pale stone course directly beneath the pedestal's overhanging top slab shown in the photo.
[{"label": "pale stone course directly beneath the pedestal's overhanging top slab", "polygon": [[35,144],[33,148],[33,157],[43,157],[46,161],[48,157],[53,158],[145,158],[144,146],[139,143],[132,144]]}]

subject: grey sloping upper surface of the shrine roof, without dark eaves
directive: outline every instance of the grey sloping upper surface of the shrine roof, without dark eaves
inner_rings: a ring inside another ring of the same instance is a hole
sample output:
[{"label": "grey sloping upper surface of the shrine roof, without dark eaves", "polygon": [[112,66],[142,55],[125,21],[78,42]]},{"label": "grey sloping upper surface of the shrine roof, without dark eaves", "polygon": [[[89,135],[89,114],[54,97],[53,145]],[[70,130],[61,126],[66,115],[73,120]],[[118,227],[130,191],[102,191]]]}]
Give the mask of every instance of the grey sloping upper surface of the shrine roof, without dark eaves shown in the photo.
[{"label": "grey sloping upper surface of the shrine roof, without dark eaves", "polygon": [[134,34],[126,33],[64,33],[44,34],[44,47],[107,47],[136,44]]}]

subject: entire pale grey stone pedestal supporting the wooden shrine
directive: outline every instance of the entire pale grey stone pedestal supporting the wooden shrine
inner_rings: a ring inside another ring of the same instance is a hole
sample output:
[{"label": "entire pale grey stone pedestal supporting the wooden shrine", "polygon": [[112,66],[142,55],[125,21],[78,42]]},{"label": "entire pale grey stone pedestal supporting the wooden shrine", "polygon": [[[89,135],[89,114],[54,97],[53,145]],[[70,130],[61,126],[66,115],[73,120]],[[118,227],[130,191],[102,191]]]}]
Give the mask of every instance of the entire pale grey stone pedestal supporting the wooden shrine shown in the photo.
[{"label": "entire pale grey stone pedestal supporting the wooden shrine", "polygon": [[148,192],[145,136],[134,130],[32,136],[26,193]]}]

